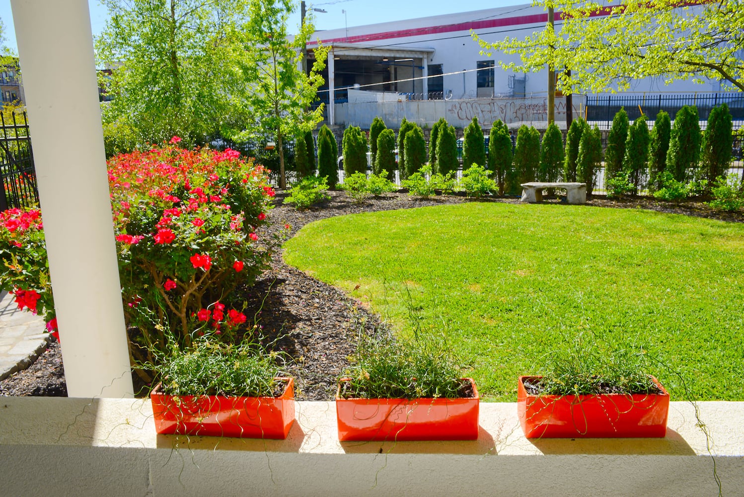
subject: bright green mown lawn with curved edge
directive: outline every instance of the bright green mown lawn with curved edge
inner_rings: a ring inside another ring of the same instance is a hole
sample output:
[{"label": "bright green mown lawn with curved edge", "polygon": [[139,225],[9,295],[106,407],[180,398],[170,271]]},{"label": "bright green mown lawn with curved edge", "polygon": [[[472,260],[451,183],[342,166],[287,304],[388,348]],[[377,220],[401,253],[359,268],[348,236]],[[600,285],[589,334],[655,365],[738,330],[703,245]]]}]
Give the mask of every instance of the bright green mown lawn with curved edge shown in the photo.
[{"label": "bright green mown lawn with curved edge", "polygon": [[675,400],[673,370],[698,400],[744,400],[744,225],[467,203],[324,219],[285,248],[400,333],[412,314],[444,330],[487,400],[515,400],[516,376],[579,333],[645,347]]}]

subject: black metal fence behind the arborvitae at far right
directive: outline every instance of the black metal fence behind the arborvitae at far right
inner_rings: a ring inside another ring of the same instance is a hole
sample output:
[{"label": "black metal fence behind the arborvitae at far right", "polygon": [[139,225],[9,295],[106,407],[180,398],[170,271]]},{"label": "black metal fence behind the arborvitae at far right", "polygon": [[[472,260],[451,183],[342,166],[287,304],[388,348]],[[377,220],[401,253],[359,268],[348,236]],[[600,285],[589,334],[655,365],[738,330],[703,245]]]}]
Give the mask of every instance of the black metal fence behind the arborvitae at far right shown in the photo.
[{"label": "black metal fence behind the arborvitae at far right", "polygon": [[744,121],[744,93],[741,92],[587,95],[586,121],[597,121],[600,128],[605,126],[604,129],[609,129],[612,118],[623,107],[631,121],[641,117],[641,112],[649,120],[653,120],[661,110],[669,113],[669,117],[674,120],[679,109],[686,105],[696,106],[700,121],[708,121],[711,109],[722,103],[728,105],[728,112],[731,112],[734,121]]}]

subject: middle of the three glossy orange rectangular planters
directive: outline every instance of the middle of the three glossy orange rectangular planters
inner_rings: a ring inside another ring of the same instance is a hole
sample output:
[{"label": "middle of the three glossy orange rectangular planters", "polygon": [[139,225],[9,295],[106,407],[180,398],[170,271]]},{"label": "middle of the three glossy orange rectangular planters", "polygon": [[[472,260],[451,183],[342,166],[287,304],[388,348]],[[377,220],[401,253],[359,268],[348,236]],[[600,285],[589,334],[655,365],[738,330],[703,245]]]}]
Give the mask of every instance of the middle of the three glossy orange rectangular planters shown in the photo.
[{"label": "middle of the three glossy orange rectangular planters", "polygon": [[473,397],[458,399],[342,399],[339,383],[339,440],[475,440],[481,397],[465,379]]}]

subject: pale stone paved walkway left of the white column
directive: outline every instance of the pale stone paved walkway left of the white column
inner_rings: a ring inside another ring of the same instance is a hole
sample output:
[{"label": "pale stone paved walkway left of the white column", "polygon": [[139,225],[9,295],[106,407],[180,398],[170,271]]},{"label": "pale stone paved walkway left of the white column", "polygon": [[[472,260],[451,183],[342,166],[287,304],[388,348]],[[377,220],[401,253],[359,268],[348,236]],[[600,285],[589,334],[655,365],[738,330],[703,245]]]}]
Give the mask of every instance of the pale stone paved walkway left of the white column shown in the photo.
[{"label": "pale stone paved walkway left of the white column", "polygon": [[0,379],[28,368],[50,338],[41,317],[18,310],[13,295],[0,292]]}]

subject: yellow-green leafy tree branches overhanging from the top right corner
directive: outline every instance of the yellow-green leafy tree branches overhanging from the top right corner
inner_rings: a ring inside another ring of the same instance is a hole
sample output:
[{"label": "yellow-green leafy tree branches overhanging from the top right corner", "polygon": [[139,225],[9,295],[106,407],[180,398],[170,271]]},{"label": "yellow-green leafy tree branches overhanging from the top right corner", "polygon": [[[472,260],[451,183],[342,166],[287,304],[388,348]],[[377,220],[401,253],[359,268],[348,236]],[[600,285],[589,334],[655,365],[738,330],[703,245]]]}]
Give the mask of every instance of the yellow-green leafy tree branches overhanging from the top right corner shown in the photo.
[{"label": "yellow-green leafy tree branches overhanging from the top right corner", "polygon": [[565,94],[604,92],[613,85],[623,90],[633,79],[656,76],[667,83],[724,79],[744,90],[744,13],[738,0],[694,2],[693,7],[675,0],[629,0],[610,7],[575,0],[537,3],[563,13],[559,33],[545,29],[525,39],[479,40],[489,56],[519,54],[519,62],[499,61],[501,67],[571,69],[557,84]]}]

